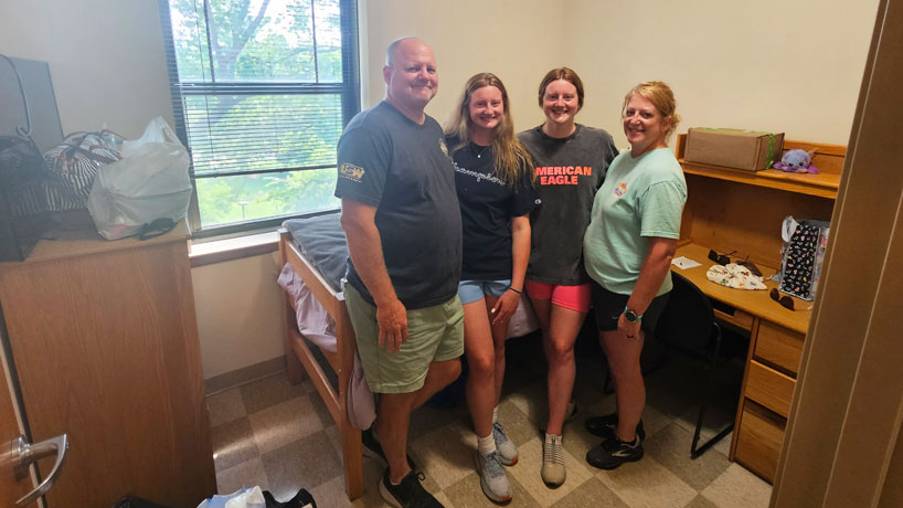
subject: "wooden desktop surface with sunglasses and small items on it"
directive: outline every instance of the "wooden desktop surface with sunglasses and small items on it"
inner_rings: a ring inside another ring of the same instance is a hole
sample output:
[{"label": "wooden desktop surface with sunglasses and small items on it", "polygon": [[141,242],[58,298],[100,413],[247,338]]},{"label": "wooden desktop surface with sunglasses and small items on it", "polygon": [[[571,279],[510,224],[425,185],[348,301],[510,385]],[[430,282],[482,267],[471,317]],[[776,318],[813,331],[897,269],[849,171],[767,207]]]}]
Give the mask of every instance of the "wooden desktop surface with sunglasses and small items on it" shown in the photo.
[{"label": "wooden desktop surface with sunglasses and small items on it", "polygon": [[[804,335],[809,329],[809,318],[812,316],[811,301],[794,298],[794,308],[796,310],[789,310],[768,296],[771,288],[777,287],[777,283],[774,281],[765,281],[768,290],[733,289],[709,281],[705,277],[705,272],[712,266],[712,262],[709,260],[709,247],[687,243],[678,247],[674,257],[679,256],[688,257],[701,265],[687,269],[672,266],[671,269],[690,279],[710,298]],[[776,272],[768,266],[758,265],[758,268],[765,277],[769,277]]]}]

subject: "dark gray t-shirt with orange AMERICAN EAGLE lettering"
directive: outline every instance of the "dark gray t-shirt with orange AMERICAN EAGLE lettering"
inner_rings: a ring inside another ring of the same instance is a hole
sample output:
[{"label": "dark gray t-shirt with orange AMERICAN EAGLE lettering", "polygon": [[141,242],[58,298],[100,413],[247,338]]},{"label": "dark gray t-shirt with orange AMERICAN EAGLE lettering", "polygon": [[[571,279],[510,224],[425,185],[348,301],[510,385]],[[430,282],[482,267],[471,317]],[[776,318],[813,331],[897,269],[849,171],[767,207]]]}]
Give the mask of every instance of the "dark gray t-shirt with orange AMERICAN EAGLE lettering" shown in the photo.
[{"label": "dark gray t-shirt with orange AMERICAN EAGLE lettering", "polygon": [[576,125],[566,138],[552,138],[542,126],[518,138],[530,150],[542,205],[530,214],[532,242],[527,278],[576,286],[589,282],[583,267],[583,233],[593,198],[618,155],[612,135]]}]

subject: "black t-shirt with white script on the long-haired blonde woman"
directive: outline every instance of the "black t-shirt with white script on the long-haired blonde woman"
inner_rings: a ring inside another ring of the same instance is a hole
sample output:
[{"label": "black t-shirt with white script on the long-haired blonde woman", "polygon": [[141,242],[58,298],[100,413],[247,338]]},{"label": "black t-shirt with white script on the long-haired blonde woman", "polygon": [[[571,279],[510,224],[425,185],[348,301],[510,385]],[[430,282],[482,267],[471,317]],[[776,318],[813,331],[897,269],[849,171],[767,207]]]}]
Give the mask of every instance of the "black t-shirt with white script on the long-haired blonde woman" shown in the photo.
[{"label": "black t-shirt with white script on the long-haired blonde woman", "polygon": [[[459,141],[452,137],[446,144],[454,150]],[[461,279],[511,278],[511,219],[530,213],[538,200],[530,170],[511,187],[496,174],[493,148],[472,142],[453,159],[464,229]]]}]

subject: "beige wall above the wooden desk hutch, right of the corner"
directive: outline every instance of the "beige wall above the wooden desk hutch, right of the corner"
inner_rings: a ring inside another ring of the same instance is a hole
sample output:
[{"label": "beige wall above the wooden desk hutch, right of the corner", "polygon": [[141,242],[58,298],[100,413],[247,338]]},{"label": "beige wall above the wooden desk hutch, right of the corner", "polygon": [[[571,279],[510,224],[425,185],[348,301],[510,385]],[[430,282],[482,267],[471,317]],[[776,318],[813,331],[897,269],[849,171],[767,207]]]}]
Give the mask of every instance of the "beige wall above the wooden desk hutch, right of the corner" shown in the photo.
[{"label": "beige wall above the wooden desk hutch, right of the corner", "polygon": [[624,94],[662,80],[688,127],[846,144],[877,0],[566,2],[562,52],[586,83],[582,120],[615,135]]}]

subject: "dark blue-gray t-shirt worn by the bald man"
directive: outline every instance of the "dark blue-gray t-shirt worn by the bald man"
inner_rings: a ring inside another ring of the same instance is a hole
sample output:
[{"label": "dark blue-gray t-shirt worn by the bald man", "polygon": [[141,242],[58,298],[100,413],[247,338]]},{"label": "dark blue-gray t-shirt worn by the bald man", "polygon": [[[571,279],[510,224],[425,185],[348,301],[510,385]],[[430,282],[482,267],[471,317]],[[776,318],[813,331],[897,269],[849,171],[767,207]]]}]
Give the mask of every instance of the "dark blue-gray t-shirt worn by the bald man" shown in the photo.
[{"label": "dark blue-gray t-shirt worn by the bald man", "polygon": [[[461,268],[455,168],[442,128],[417,125],[381,102],[351,119],[339,139],[336,197],[376,207],[383,261],[408,309],[453,298]],[[351,258],[348,282],[370,304]]]}]

